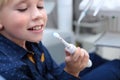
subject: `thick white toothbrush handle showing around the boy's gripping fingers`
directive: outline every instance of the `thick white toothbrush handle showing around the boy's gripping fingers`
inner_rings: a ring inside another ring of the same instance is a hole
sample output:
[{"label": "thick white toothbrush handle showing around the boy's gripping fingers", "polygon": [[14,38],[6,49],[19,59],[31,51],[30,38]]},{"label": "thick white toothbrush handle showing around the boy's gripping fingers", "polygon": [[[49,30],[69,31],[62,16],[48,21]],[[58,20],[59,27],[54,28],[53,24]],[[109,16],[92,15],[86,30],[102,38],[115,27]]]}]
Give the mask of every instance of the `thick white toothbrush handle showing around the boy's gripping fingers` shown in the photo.
[{"label": "thick white toothbrush handle showing around the boy's gripping fingers", "polygon": [[[69,44],[69,46],[66,46],[65,48],[68,52],[70,52],[71,54],[74,54],[75,50],[76,50],[76,46],[73,44]],[[92,61],[89,59],[88,64],[86,67],[91,67],[92,66]]]}]

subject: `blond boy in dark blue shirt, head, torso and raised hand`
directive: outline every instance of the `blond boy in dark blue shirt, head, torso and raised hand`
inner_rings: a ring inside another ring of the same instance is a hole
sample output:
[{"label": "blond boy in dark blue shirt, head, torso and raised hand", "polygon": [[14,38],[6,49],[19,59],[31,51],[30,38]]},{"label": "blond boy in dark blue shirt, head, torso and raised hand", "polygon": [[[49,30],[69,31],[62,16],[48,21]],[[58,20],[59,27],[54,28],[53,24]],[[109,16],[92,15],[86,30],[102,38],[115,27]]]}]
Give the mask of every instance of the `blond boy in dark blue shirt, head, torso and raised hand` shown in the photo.
[{"label": "blond boy in dark blue shirt, head, torso and raised hand", "polygon": [[47,22],[44,0],[0,0],[0,75],[9,80],[80,80],[88,53],[66,51],[64,69],[41,43]]}]

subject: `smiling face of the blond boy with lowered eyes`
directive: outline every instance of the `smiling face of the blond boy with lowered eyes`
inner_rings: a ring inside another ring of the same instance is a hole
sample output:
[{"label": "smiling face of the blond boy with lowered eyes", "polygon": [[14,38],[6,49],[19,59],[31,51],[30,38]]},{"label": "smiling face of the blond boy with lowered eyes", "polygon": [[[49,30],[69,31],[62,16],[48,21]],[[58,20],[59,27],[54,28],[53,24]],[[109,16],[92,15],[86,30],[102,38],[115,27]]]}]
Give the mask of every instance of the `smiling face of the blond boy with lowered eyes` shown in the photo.
[{"label": "smiling face of the blond boy with lowered eyes", "polygon": [[14,42],[39,42],[46,22],[44,0],[11,0],[0,10],[0,33]]}]

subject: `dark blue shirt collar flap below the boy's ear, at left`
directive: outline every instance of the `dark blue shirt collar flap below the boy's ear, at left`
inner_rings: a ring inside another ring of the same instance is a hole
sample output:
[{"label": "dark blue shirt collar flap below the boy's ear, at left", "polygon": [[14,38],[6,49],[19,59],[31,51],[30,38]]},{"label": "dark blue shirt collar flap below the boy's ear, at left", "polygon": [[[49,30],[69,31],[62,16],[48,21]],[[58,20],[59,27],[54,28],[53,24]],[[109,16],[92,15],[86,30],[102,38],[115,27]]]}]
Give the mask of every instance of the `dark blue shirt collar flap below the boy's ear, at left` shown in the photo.
[{"label": "dark blue shirt collar flap below the boy's ear, at left", "polygon": [[0,51],[9,58],[15,59],[21,59],[27,54],[27,51],[24,48],[15,44],[3,35],[0,35]]}]

